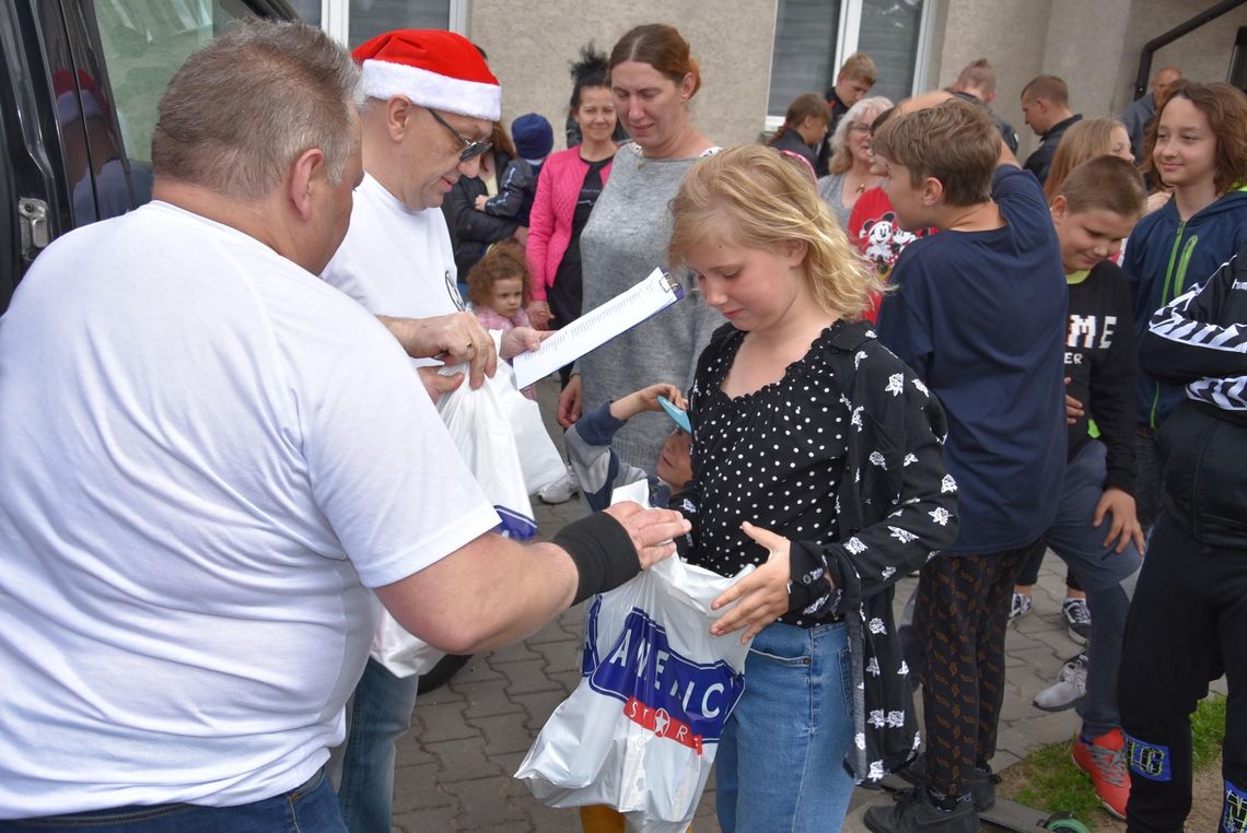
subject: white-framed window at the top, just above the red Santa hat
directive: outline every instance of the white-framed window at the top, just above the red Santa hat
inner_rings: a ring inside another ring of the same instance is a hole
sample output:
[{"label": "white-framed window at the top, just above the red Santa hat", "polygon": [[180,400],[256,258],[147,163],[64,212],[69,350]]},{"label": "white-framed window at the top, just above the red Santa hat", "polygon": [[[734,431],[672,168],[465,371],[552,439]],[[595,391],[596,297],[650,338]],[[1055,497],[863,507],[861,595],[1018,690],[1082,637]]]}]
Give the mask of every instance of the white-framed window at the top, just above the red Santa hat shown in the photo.
[{"label": "white-framed window at the top, just above the red Santa hat", "polygon": [[466,0],[293,0],[306,22],[355,49],[392,29],[466,30]]}]

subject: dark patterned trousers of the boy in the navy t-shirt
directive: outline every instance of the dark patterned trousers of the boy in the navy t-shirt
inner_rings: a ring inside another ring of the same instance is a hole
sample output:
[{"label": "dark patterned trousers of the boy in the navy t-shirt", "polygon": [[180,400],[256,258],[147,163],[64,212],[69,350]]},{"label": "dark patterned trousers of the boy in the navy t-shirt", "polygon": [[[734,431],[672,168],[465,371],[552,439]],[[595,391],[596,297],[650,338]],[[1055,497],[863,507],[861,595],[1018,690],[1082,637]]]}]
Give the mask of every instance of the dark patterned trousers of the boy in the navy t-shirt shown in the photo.
[{"label": "dark patterned trousers of the boy in the navy t-shirt", "polygon": [[914,630],[927,657],[927,784],[944,796],[970,794],[974,767],[995,754],[1009,602],[1030,549],[941,555],[923,566]]}]

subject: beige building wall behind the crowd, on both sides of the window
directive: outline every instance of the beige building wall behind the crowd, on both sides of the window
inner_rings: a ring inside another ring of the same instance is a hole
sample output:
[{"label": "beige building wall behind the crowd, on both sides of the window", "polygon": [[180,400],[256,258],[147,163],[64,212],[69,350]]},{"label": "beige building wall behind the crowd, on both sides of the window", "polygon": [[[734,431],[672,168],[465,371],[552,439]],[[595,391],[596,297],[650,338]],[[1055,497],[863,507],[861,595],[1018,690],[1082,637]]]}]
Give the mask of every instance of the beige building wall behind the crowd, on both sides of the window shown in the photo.
[{"label": "beige building wall behind the crowd, on both sides of the window", "polygon": [[[870,0],[868,0],[870,1]],[[1019,96],[1040,72],[1070,85],[1071,106],[1086,116],[1116,115],[1131,101],[1143,44],[1203,11],[1211,0],[925,0],[934,4],[927,77],[948,86],[963,66],[986,57],[996,69],[995,110],[1021,138],[1036,137],[1023,121]],[[701,64],[693,121],[731,146],[758,137],[766,117],[774,44],[776,0],[471,0],[468,36],[490,55],[503,82],[503,117],[540,112],[564,147],[571,95],[569,61],[595,41],[609,52],[635,25],[675,25]],[[1177,65],[1201,81],[1225,80],[1235,32],[1247,5],[1160,50],[1153,71]]]}]

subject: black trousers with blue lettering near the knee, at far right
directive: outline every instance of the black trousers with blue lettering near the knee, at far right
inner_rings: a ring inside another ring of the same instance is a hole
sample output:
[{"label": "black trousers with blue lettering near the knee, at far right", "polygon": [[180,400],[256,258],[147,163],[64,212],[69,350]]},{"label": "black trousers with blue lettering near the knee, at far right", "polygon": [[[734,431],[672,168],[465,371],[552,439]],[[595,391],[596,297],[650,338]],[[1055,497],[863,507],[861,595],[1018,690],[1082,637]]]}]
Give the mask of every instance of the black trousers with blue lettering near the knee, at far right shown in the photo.
[{"label": "black trousers with blue lettering near the knee, at far right", "polygon": [[1129,738],[1127,831],[1180,832],[1191,812],[1191,712],[1230,683],[1218,829],[1247,829],[1247,549],[1191,537],[1168,513],[1152,529],[1126,620],[1117,705]]}]

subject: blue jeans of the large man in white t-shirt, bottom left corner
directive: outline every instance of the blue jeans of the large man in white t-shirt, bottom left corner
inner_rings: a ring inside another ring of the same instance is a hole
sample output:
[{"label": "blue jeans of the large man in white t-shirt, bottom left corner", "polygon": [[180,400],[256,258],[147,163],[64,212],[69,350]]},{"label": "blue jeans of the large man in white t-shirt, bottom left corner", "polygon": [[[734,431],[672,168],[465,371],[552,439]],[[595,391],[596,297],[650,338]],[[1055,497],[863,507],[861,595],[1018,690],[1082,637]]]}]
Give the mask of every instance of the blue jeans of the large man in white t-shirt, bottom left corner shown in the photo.
[{"label": "blue jeans of the large man in white t-shirt, bottom left corner", "polygon": [[238,807],[157,804],[0,822],[5,833],[344,833],[324,769],[281,796]]}]

